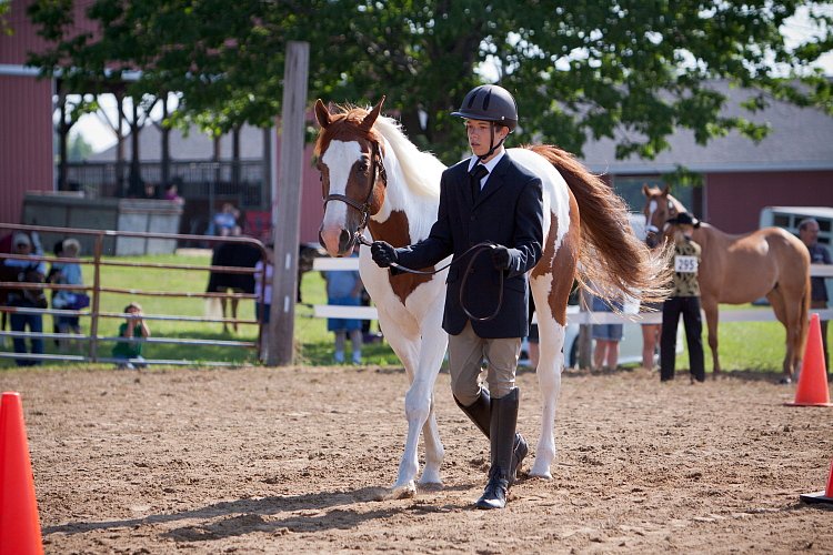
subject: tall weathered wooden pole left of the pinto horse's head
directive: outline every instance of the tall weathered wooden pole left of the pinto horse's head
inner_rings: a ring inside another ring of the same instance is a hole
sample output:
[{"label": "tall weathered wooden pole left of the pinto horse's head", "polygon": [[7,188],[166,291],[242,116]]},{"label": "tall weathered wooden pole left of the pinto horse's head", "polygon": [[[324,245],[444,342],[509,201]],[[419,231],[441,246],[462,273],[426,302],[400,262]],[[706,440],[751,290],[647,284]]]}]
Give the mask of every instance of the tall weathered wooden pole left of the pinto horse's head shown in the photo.
[{"label": "tall weathered wooden pole left of the pinto horse's head", "polygon": [[294,360],[295,291],[298,287],[298,245],[301,220],[301,178],[303,169],[307,75],[309,42],[287,43],[283,70],[281,115],[281,158],[278,183],[272,195],[274,233],[274,273],[269,322],[267,364],[285,366]]}]

